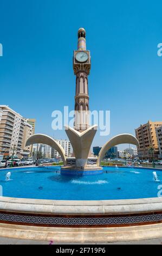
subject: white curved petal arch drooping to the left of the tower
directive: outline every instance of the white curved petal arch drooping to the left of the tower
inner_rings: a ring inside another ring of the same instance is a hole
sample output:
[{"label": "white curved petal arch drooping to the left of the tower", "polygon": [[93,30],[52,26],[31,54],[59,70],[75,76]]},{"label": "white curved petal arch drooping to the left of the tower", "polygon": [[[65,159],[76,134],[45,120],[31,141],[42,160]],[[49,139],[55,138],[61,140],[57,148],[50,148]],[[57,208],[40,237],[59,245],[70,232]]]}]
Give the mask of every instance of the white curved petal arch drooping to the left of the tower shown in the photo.
[{"label": "white curved petal arch drooping to the left of the tower", "polygon": [[63,164],[66,165],[66,155],[65,155],[64,149],[53,138],[51,138],[47,135],[44,135],[44,134],[35,134],[27,140],[25,146],[27,147],[31,144],[36,144],[36,143],[46,144],[46,145],[49,145],[50,147],[56,149],[62,157]]}]

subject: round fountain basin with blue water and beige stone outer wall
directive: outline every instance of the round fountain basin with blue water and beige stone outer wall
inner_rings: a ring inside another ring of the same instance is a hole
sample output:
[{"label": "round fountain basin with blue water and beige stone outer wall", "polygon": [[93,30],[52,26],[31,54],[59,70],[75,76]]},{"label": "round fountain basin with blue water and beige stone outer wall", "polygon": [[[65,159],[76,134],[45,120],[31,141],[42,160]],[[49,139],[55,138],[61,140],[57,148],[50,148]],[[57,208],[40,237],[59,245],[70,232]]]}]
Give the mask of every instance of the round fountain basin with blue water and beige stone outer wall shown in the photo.
[{"label": "round fountain basin with blue water and beige stone outer wall", "polygon": [[99,175],[61,175],[60,167],[3,169],[0,232],[57,242],[160,237],[161,184],[161,170],[151,168],[104,167]]}]

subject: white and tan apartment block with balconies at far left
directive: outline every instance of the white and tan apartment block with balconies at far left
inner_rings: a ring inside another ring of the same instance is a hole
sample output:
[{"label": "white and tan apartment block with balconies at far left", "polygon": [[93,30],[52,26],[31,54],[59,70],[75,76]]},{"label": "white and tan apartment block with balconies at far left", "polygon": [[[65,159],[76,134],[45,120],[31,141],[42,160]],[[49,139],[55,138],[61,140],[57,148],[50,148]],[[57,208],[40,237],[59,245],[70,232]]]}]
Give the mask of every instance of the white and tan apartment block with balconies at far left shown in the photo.
[{"label": "white and tan apartment block with balconies at far left", "polygon": [[25,139],[32,134],[34,130],[27,123],[27,119],[9,106],[0,105],[0,155],[11,156],[13,148],[15,148],[14,155],[19,158],[29,155],[31,148],[25,148]]}]

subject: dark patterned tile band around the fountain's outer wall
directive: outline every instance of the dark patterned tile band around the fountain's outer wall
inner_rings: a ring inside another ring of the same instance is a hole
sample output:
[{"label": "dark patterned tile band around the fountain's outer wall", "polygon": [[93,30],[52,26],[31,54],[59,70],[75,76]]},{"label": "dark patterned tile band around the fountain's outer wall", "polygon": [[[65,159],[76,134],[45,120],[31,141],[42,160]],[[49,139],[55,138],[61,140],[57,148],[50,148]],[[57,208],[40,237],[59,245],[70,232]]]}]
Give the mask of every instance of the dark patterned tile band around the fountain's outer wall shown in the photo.
[{"label": "dark patterned tile band around the fountain's outer wall", "polygon": [[136,225],[162,222],[162,213],[140,214],[128,216],[55,216],[55,215],[31,215],[16,213],[0,213],[0,222],[28,225],[47,225],[48,227],[93,227]]}]

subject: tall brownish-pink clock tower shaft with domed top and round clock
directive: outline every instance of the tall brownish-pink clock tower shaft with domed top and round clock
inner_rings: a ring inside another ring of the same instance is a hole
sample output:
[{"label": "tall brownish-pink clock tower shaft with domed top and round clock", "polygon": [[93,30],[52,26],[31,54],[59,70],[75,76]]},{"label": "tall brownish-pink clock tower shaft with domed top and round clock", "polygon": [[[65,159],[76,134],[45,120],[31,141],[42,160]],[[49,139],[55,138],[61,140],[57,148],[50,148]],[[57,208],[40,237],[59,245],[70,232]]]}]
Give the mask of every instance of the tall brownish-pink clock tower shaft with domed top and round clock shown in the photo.
[{"label": "tall brownish-pink clock tower shaft with domed top and round clock", "polygon": [[86,50],[86,31],[77,32],[77,50],[74,51],[73,70],[76,75],[74,129],[85,131],[89,127],[88,75],[90,72],[90,52]]}]

